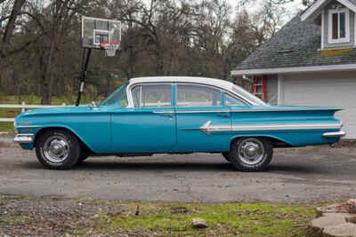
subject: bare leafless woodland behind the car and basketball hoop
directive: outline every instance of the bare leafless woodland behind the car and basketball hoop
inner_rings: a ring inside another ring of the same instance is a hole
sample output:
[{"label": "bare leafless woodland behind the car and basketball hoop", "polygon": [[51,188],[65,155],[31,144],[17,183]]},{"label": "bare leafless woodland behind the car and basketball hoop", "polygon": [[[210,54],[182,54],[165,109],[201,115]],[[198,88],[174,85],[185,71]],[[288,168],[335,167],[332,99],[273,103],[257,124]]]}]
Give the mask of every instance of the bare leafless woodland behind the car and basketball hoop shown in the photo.
[{"label": "bare leafless woodland behind the car and basketball hoop", "polygon": [[73,97],[81,15],[124,26],[117,57],[93,51],[91,96],[105,96],[133,76],[230,78],[233,67],[279,30],[277,1],[264,1],[256,14],[231,15],[227,0],[0,0],[0,85],[6,93],[35,93],[43,104],[53,95]]}]

